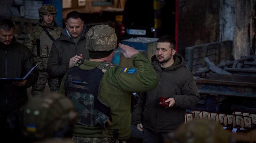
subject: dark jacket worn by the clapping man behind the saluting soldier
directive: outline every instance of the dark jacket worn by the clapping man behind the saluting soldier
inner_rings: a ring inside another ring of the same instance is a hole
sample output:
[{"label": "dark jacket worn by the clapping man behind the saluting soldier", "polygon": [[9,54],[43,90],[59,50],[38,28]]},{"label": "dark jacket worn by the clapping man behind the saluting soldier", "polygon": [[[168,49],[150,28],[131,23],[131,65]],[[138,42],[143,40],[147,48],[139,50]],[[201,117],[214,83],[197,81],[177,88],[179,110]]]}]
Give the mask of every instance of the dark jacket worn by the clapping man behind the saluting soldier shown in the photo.
[{"label": "dark jacket worn by the clapping man behind the saluting soldier", "polygon": [[70,58],[83,54],[83,58],[89,60],[88,49],[85,48],[85,34],[88,28],[84,26],[84,34],[77,44],[66,30],[67,28],[63,29],[61,36],[53,42],[47,63],[47,73],[52,78],[59,78],[59,85],[69,69]]}]

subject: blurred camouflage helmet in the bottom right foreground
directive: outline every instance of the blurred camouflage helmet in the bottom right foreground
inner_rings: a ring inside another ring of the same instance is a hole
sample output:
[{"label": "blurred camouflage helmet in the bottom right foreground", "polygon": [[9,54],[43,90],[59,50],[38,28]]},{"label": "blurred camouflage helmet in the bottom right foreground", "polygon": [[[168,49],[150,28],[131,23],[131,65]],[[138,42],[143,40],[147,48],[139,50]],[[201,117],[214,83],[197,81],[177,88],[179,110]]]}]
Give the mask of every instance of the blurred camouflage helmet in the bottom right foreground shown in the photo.
[{"label": "blurred camouflage helmet in the bottom right foreground", "polygon": [[236,140],[215,121],[195,119],[170,133],[165,143],[235,143]]}]

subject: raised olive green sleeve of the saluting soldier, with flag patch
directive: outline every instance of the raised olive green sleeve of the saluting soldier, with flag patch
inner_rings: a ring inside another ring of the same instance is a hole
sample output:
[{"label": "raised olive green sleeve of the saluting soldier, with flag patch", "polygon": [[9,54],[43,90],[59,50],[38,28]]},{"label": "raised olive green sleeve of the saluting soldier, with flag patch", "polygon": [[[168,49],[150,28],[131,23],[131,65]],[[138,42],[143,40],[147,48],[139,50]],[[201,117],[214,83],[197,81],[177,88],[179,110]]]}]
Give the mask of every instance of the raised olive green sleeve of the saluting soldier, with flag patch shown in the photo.
[{"label": "raised olive green sleeve of the saluting soldier, with flag patch", "polygon": [[132,61],[135,68],[113,67],[109,69],[106,72],[108,84],[130,93],[154,89],[157,86],[157,76],[149,60],[141,54],[134,54]]}]

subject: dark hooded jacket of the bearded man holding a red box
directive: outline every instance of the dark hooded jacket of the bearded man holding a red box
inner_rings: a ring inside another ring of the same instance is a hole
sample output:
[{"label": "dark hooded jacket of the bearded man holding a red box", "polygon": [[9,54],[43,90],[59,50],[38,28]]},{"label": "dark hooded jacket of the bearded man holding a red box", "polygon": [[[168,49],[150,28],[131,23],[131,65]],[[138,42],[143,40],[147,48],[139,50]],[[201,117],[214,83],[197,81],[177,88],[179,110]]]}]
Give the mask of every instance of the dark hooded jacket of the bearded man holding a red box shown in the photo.
[{"label": "dark hooded jacket of the bearded man holding a red box", "polygon": [[[138,96],[133,111],[133,124],[142,123],[144,128],[155,133],[166,133],[184,123],[186,109],[195,107],[200,95],[185,60],[179,54],[174,55],[173,65],[163,71],[156,56],[151,58],[151,63],[158,77],[158,85],[156,89]],[[159,97],[173,97],[174,106],[159,106]]]}]

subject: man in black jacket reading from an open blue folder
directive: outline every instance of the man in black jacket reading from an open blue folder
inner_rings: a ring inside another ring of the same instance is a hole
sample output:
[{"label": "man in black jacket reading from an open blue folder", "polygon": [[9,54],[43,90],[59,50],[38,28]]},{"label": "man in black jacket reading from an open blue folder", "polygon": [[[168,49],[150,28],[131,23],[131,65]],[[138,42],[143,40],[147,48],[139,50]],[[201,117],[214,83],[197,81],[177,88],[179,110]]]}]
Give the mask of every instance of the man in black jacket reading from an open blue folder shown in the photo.
[{"label": "man in black jacket reading from an open blue folder", "polygon": [[[0,78],[23,78],[35,66],[30,49],[16,42],[14,28],[11,20],[1,20]],[[0,80],[0,130],[5,130],[7,118],[15,118],[27,102],[27,88],[37,81],[37,77],[38,72],[34,69],[23,81]]]}]

